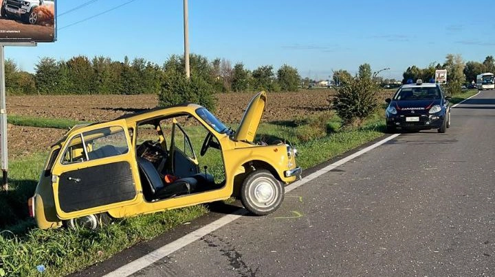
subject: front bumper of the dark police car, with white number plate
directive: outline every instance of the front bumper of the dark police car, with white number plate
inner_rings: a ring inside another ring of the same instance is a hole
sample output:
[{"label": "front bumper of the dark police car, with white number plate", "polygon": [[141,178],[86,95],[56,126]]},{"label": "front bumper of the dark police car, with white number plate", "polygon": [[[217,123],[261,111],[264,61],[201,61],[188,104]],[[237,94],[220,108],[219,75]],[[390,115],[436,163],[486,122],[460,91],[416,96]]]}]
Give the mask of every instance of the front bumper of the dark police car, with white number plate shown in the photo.
[{"label": "front bumper of the dark police car, with white number plate", "polygon": [[394,128],[437,129],[442,125],[443,118],[440,115],[396,115],[387,117],[386,125]]}]

